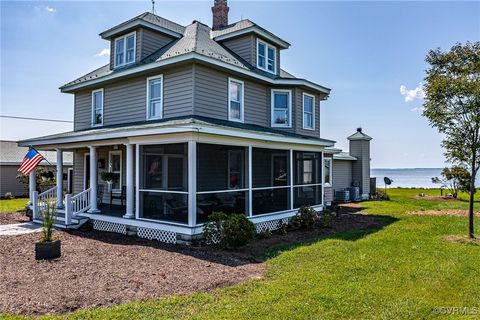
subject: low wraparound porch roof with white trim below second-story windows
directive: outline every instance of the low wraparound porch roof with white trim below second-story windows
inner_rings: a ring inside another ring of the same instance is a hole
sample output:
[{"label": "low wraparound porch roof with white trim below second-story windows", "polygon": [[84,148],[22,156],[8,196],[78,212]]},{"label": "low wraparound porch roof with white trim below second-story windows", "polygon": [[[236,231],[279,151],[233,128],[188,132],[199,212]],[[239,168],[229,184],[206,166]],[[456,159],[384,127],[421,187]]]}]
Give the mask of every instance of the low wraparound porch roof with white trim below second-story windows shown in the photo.
[{"label": "low wraparound porch roof with white trim below second-story windows", "polygon": [[312,138],[257,125],[191,116],[64,132],[22,140],[18,142],[18,145],[21,147],[36,146],[49,148],[59,145],[75,147],[75,145],[79,144],[86,145],[86,142],[99,144],[99,141],[102,140],[105,140],[105,144],[111,144],[114,140],[116,140],[115,143],[129,143],[132,138],[138,139],[143,136],[179,133],[204,133],[232,138],[311,145],[322,148],[331,147],[335,144],[335,141],[332,140]]}]

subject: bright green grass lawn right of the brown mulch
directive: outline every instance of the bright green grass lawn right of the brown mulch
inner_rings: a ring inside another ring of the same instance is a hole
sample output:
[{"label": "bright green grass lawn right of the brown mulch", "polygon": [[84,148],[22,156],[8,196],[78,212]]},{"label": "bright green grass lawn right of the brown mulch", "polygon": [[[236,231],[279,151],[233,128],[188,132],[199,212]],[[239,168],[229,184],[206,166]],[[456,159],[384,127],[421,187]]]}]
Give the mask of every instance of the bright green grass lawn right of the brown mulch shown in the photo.
[{"label": "bright green grass lawn right of the brown mulch", "polygon": [[264,279],[213,293],[80,311],[68,318],[446,318],[432,311],[437,307],[469,307],[480,317],[480,246],[445,240],[447,235],[466,234],[466,217],[405,214],[466,209],[468,202],[411,198],[419,192],[392,189],[391,201],[362,203],[365,211],[385,223],[381,229],[276,248]]}]

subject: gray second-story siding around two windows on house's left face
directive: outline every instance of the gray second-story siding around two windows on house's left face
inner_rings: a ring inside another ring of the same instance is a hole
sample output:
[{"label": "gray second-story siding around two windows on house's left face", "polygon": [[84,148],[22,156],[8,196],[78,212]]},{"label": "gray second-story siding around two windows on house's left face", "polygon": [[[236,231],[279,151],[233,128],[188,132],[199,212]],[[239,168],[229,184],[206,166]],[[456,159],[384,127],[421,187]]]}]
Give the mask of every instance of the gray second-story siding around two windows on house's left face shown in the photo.
[{"label": "gray second-story siding around two windows on house's left face", "polygon": [[164,118],[185,116],[193,110],[193,75],[191,66],[120,80],[103,87],[75,93],[74,130],[91,128],[92,91],[103,88],[103,125],[145,121],[147,117],[147,78],[163,74]]}]

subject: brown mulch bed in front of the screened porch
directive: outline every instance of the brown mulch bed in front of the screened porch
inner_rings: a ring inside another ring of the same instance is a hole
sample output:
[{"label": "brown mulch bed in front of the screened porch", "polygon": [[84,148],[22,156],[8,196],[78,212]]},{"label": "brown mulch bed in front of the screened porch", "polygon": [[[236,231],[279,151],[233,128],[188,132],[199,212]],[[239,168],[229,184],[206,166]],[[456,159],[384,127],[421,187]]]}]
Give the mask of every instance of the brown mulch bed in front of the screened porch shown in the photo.
[{"label": "brown mulch bed in front of the screened porch", "polygon": [[373,217],[348,215],[330,229],[291,231],[238,251],[167,245],[92,230],[62,232],[62,257],[34,259],[38,234],[0,237],[0,313],[63,314],[132,300],[209,291],[261,277],[265,252],[322,234],[379,227]]}]

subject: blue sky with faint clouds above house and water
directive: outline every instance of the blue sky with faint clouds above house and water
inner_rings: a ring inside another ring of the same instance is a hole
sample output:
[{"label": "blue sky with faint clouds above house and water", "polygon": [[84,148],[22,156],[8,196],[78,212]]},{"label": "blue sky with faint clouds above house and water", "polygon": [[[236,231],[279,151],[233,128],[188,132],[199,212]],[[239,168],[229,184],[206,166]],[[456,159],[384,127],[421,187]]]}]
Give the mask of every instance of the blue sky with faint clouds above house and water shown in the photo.
[{"label": "blue sky with faint clouds above house and water", "polygon": [[[156,14],[211,25],[212,1],[156,0]],[[282,68],[331,88],[321,136],[348,150],[358,126],[373,137],[373,168],[445,166],[442,137],[421,115],[425,56],[480,40],[480,2],[229,1],[229,21],[250,19],[292,45]],[[1,1],[0,115],[73,120],[61,85],[108,63],[98,34],[145,1]],[[72,130],[71,123],[0,118],[0,138]]]}]

